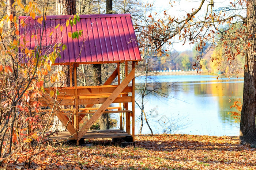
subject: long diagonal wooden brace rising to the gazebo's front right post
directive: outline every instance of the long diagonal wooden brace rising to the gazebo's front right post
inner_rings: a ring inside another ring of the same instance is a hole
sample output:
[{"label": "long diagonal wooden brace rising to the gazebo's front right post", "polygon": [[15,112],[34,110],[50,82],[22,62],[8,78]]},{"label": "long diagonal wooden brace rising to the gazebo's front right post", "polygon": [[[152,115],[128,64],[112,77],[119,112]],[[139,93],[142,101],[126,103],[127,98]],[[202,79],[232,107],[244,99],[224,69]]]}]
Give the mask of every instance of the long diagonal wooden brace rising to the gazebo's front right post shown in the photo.
[{"label": "long diagonal wooden brace rising to the gazebo's front right post", "polygon": [[114,90],[112,94],[106,99],[106,101],[101,105],[101,107],[94,113],[94,115],[89,119],[82,128],[80,128],[78,139],[79,141],[84,134],[89,130],[89,128],[98,120],[99,116],[101,116],[110,104],[117,98],[117,96],[124,90],[124,88],[129,84],[130,81],[134,78],[135,68],[129,73],[129,75],[121,82],[120,85]]}]

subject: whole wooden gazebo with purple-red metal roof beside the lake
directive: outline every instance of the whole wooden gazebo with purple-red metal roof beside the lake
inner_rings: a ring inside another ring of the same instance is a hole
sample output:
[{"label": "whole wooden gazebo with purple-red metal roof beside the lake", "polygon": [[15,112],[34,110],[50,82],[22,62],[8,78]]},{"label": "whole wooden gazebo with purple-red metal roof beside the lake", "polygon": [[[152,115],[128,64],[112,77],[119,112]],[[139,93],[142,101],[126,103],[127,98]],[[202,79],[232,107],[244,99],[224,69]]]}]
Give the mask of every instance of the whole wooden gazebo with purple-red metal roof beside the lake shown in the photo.
[{"label": "whole wooden gazebo with purple-red metal roof beside the lake", "polygon": [[[50,51],[55,44],[61,43],[66,46],[66,49],[60,52],[61,57],[57,58],[53,65],[74,67],[74,86],[72,86],[72,74],[70,74],[71,86],[45,88],[46,93],[53,91],[54,94],[56,92],[59,94],[56,95],[55,100],[48,94],[40,99],[42,105],[53,109],[63,125],[67,127],[68,132],[60,132],[54,138],[75,139],[78,142],[82,138],[132,136],[134,142],[135,64],[142,58],[131,15],[80,15],[80,22],[72,27],[70,24],[66,26],[70,17],[73,16],[46,16],[45,22],[39,23],[37,21],[39,17],[33,19],[28,16],[19,16],[21,43],[25,39],[27,42],[25,46],[32,50],[40,45],[42,53]],[[72,32],[79,30],[83,33],[79,38],[69,37]],[[77,86],[77,66],[96,63],[116,63],[117,68],[102,86]],[[123,81],[120,79],[121,63],[125,65]],[[131,66],[131,69],[128,66]],[[128,73],[128,70],[131,71]],[[111,85],[116,77],[118,85]],[[129,85],[130,82],[131,85]],[[124,107],[110,107],[112,103],[123,103]],[[128,108],[128,103],[132,103],[132,108]],[[93,107],[94,104],[102,105],[96,108]],[[63,105],[69,107],[63,108]],[[85,107],[80,108],[79,105],[85,105]],[[120,113],[120,129],[89,131],[103,113]],[[121,113],[125,113],[125,130],[122,129]],[[87,114],[91,114],[91,118],[85,124],[80,124]]]}]

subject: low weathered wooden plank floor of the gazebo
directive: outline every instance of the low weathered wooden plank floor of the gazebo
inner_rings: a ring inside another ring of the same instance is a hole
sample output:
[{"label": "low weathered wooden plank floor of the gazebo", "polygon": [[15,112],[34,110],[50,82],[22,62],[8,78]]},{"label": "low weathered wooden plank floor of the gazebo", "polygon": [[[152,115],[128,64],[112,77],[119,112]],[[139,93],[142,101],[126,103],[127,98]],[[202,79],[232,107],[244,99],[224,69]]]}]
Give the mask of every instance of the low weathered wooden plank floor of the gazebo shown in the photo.
[{"label": "low weathered wooden plank floor of the gazebo", "polygon": [[[123,130],[94,130],[87,131],[83,138],[85,139],[95,139],[95,138],[124,138],[128,135],[127,132]],[[74,139],[68,131],[59,132],[58,135],[52,136],[51,139],[58,140],[72,140]]]}]

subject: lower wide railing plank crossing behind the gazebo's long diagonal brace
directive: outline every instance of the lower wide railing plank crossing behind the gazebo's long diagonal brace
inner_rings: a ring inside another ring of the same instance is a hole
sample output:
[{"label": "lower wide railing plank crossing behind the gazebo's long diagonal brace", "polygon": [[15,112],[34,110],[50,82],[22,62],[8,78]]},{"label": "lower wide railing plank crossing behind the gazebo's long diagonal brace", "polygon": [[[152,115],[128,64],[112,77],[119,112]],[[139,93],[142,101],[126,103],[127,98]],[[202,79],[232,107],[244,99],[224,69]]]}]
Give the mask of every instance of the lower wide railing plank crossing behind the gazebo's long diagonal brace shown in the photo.
[{"label": "lower wide railing plank crossing behind the gazebo's long diagonal brace", "polygon": [[[113,94],[113,93],[112,93]],[[111,95],[110,95],[111,96]],[[108,98],[83,98],[78,99],[78,104],[103,104]],[[112,103],[128,103],[132,102],[132,97],[117,97],[114,100],[112,100]]]}]

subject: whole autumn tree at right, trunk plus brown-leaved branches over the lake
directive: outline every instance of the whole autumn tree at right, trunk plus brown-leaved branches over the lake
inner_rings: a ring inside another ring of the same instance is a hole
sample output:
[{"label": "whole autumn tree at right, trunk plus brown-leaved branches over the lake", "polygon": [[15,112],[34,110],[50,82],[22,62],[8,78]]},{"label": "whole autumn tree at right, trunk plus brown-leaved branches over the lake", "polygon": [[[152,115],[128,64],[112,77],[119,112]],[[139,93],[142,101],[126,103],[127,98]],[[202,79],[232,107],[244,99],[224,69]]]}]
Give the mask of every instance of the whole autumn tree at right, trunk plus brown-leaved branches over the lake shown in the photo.
[{"label": "whole autumn tree at right, trunk plus brown-leaved branches over the lake", "polygon": [[[171,2],[171,5],[173,4],[174,1]],[[243,70],[241,65],[236,64],[238,55],[245,56],[241,144],[256,144],[255,4],[255,0],[238,0],[225,7],[214,8],[214,0],[202,0],[199,6],[192,8],[184,18],[170,16],[164,11],[163,17],[150,14],[141,22],[137,22],[135,27],[139,32],[138,38],[143,51],[155,51],[158,56],[163,53],[162,47],[172,45],[176,37],[180,41],[198,43],[197,51],[202,51],[206,42],[212,45],[222,42],[225,52],[223,59],[229,61],[235,73]],[[150,8],[151,4],[147,4],[147,7]],[[205,8],[206,12],[200,16],[199,11],[202,8]],[[237,24],[242,24],[243,27],[237,27]],[[226,25],[226,29],[222,30],[222,25]],[[201,58],[200,55],[196,57],[196,62],[192,65],[194,69],[200,68]]]}]

